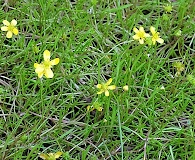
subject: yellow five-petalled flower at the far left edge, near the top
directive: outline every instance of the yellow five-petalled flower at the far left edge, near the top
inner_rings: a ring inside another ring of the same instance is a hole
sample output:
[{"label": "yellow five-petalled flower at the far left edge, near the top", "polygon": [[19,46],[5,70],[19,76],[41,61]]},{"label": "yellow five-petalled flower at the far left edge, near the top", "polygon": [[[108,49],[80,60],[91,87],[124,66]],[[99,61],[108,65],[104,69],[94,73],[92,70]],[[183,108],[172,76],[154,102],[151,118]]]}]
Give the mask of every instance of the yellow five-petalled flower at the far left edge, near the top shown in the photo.
[{"label": "yellow five-petalled flower at the far left edge, near the top", "polygon": [[15,27],[16,24],[17,24],[17,21],[15,19],[13,19],[11,21],[11,23],[8,22],[7,20],[3,20],[3,24],[5,26],[1,27],[1,30],[2,31],[7,31],[7,34],[6,34],[7,38],[12,38],[13,34],[18,35],[18,29]]}]

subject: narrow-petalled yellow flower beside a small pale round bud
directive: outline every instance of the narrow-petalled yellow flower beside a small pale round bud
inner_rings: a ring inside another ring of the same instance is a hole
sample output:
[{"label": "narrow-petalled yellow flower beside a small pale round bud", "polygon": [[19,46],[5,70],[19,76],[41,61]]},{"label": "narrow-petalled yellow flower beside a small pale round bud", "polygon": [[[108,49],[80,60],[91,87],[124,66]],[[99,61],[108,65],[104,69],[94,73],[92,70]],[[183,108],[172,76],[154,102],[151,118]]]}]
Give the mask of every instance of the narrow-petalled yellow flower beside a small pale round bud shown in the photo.
[{"label": "narrow-petalled yellow flower beside a small pale round bud", "polygon": [[105,96],[109,96],[109,92],[108,90],[114,90],[116,88],[115,85],[110,85],[110,83],[112,83],[112,78],[110,78],[106,83],[102,83],[102,84],[97,84],[97,88],[100,89],[99,92],[97,92],[97,94],[102,94],[103,92],[105,92]]}]

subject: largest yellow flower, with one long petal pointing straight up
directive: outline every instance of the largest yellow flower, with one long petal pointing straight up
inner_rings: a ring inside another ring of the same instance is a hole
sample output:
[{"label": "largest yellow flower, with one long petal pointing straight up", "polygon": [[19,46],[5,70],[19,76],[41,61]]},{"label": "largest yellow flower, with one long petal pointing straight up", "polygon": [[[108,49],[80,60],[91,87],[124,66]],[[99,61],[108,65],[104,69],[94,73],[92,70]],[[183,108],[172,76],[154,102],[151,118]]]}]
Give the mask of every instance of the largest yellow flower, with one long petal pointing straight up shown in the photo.
[{"label": "largest yellow flower, with one long petal pointing straight up", "polygon": [[34,63],[35,72],[38,74],[38,77],[41,78],[43,75],[46,78],[53,78],[53,72],[51,70],[53,65],[57,65],[60,61],[59,58],[55,58],[50,61],[50,52],[45,50],[43,53],[44,62],[41,64]]}]

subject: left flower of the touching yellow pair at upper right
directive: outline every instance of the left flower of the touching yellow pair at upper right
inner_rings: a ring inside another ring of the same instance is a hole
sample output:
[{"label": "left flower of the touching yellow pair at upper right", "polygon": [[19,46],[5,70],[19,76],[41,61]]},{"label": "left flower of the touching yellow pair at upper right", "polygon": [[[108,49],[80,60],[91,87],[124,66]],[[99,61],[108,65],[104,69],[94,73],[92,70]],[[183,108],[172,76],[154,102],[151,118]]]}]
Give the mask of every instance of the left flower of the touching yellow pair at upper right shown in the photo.
[{"label": "left flower of the touching yellow pair at upper right", "polygon": [[134,36],[133,36],[133,39],[135,40],[139,40],[139,43],[140,44],[144,44],[144,40],[146,37],[150,37],[150,35],[148,33],[146,33],[144,31],[144,28],[143,27],[140,27],[139,30],[137,28],[133,28],[133,31],[136,33]]}]

